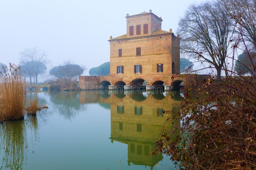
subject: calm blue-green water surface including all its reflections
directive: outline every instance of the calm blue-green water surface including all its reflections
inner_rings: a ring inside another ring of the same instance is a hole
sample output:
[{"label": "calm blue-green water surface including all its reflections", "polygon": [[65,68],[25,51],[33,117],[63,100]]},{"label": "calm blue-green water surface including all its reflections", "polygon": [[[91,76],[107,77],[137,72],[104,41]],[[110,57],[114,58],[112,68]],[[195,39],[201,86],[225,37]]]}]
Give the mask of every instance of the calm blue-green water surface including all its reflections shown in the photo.
[{"label": "calm blue-green water surface including all its reflections", "polygon": [[121,163],[122,169],[154,169],[155,162],[156,169],[173,167],[151,151],[168,117],[157,111],[179,109],[180,93],[27,94],[34,96],[49,109],[0,125],[0,169],[112,170]]}]

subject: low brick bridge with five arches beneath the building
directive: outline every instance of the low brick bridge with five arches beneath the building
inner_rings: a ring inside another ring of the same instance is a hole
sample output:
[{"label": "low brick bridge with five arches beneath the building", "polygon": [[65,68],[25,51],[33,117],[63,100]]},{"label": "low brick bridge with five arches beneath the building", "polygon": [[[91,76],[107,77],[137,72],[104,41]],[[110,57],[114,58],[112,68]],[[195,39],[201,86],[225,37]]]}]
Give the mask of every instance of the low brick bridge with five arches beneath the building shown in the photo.
[{"label": "low brick bridge with five arches beneath the building", "polygon": [[202,81],[207,78],[207,74],[125,74],[125,75],[106,75],[106,76],[80,76],[79,87],[83,90],[95,90],[99,87],[107,88],[110,86],[121,87],[131,86],[131,88],[140,87],[162,87],[169,86],[172,90],[187,87],[196,81]]}]

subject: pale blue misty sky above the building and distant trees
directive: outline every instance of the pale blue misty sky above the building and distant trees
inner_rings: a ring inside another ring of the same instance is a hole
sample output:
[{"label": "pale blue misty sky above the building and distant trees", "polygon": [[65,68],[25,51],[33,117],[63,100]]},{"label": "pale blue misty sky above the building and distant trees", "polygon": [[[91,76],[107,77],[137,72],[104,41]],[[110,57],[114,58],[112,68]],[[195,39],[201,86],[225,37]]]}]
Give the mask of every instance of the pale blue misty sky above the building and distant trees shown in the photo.
[{"label": "pale blue misty sky above the building and distant trees", "polygon": [[126,33],[126,13],[151,9],[162,17],[162,30],[176,35],[179,18],[197,2],[203,0],[0,0],[0,62],[18,63],[21,51],[38,47],[52,60],[49,67],[70,59],[89,70],[109,61],[107,40]]}]

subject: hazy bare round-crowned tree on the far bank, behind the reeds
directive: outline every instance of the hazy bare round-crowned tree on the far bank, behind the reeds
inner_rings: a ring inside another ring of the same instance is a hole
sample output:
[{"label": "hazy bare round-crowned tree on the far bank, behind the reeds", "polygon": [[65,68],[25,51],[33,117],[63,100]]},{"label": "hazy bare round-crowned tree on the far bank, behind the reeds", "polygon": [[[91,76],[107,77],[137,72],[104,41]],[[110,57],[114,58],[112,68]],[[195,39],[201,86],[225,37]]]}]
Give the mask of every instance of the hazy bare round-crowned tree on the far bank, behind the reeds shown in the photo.
[{"label": "hazy bare round-crowned tree on the far bank, behind the reeds", "polygon": [[38,75],[46,71],[46,64],[48,63],[49,60],[47,59],[47,54],[38,48],[28,48],[20,53],[20,65],[22,65],[29,73],[34,74],[36,84]]}]

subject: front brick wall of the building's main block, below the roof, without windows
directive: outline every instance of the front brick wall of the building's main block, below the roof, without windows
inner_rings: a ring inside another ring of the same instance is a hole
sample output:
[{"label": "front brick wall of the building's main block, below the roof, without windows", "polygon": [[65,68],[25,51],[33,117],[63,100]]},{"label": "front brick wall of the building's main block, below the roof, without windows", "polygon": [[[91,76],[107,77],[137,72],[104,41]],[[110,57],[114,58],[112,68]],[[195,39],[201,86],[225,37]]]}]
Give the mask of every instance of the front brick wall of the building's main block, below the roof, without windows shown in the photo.
[{"label": "front brick wall of the building's main block, below the roof, without windows", "polygon": [[[136,56],[136,47],[141,47],[141,56]],[[118,57],[118,49],[122,49],[122,57]],[[110,74],[116,74],[116,66],[124,66],[124,74],[139,74],[134,73],[134,65],[142,65],[143,74],[172,74],[172,53],[179,66],[179,51],[172,50],[172,34],[111,41]],[[164,64],[164,72],[157,73],[156,64]]]}]

